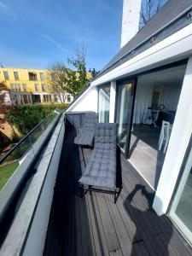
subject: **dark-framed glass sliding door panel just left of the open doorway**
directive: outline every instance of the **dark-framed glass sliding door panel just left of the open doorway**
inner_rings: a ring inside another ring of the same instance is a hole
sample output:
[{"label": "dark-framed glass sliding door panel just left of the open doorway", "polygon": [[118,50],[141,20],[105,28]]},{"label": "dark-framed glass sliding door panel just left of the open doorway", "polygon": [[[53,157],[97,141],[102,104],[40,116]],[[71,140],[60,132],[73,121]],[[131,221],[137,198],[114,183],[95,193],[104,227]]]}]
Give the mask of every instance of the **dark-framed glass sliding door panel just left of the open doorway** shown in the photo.
[{"label": "dark-framed glass sliding door panel just left of the open doorway", "polygon": [[122,82],[117,86],[116,123],[118,124],[118,143],[126,156],[128,156],[130,147],[135,87],[135,81]]}]

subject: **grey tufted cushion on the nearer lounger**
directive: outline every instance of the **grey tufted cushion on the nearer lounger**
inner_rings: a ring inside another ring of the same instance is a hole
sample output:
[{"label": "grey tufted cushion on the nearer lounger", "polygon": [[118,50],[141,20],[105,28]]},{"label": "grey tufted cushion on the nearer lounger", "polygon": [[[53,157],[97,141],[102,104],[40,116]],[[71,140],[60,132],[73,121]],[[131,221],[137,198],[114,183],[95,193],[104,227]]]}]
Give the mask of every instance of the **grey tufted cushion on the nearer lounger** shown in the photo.
[{"label": "grey tufted cushion on the nearer lounger", "polygon": [[116,187],[116,125],[96,125],[95,148],[79,183]]}]

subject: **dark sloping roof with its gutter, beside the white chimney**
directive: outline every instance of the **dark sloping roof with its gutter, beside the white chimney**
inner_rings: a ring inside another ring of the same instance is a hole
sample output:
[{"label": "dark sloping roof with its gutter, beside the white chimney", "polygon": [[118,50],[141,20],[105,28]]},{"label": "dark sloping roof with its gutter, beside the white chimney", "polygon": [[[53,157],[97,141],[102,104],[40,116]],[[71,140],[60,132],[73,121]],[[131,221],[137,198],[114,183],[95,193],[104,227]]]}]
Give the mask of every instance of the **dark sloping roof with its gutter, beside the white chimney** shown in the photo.
[{"label": "dark sloping roof with its gutter, beside the white chimney", "polygon": [[[96,76],[96,79],[104,73],[108,73],[113,68],[118,67],[123,62],[128,61],[135,55],[138,55],[143,50],[159,43],[173,32],[177,32],[184,26],[189,25],[189,23],[192,22],[191,17],[187,19],[186,16],[183,17],[183,15],[186,15],[190,9],[192,9],[192,0],[168,1],[157,15],[155,15],[143,29],[137,32],[137,35],[125,44],[125,46],[120,49],[119,53],[108,62],[108,65],[102,69],[101,73]],[[182,17],[183,20],[181,20]],[[173,23],[174,26],[172,26]],[[154,40],[151,41],[154,36]]]}]

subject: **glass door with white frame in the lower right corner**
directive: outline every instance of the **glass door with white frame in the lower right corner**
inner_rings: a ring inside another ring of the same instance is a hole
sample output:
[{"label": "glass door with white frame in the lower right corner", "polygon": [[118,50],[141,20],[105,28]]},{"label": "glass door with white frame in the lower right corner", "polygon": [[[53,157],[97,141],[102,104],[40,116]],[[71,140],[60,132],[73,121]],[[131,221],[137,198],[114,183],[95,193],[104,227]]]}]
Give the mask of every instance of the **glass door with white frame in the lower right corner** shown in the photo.
[{"label": "glass door with white frame in the lower right corner", "polygon": [[192,243],[192,145],[189,156],[183,166],[183,176],[178,185],[176,195],[169,213],[172,221],[183,235]]}]

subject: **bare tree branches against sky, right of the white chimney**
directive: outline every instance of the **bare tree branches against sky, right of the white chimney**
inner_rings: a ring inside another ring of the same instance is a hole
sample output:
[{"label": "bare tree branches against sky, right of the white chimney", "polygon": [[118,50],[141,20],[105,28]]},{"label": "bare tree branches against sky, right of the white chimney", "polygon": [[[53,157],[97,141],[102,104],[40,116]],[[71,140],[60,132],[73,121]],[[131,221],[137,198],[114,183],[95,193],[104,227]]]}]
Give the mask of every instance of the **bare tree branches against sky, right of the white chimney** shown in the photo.
[{"label": "bare tree branches against sky, right of the white chimney", "polygon": [[148,24],[148,21],[158,13],[164,3],[165,1],[163,0],[143,0],[140,13],[140,28]]}]

